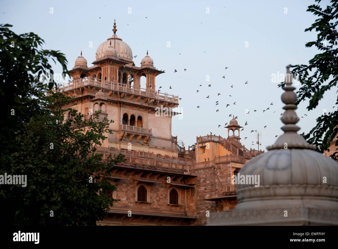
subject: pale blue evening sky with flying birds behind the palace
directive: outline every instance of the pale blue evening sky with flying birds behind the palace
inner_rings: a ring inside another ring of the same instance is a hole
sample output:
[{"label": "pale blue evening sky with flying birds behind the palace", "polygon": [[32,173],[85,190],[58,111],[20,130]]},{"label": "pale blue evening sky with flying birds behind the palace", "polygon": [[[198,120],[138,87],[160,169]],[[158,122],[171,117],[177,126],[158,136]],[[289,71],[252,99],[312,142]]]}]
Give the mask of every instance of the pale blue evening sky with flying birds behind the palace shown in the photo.
[{"label": "pale blue evening sky with flying birds behind the palace", "polygon": [[[38,34],[45,40],[43,48],[60,50],[72,69],[81,50],[88,66],[93,66],[96,49],[113,35],[116,19],[116,34],[137,55],[135,64],[140,65],[148,50],[154,66],[165,69],[155,79],[156,90],[162,86],[162,92],[182,98],[178,106],[182,115],[172,118],[172,135],[186,148],[196,143],[197,136],[211,132],[226,138],[225,123],[232,119],[229,115],[235,115],[244,127],[242,144],[258,149],[256,132],[250,132],[257,129],[262,132],[260,149],[266,151],[275,136],[283,133],[284,91],[277,87],[280,81],[272,82],[273,74],[285,74],[288,64],[308,64],[318,53],[305,47],[316,40],[315,32],[304,32],[316,19],[306,12],[313,3],[1,0],[0,22],[13,25],[17,34]],[[53,70],[62,73],[59,64]],[[144,81],[141,87],[145,88]],[[307,111],[308,100],[298,105],[298,133],[310,131],[324,109],[337,108],[336,91],[327,92],[315,110]]]}]

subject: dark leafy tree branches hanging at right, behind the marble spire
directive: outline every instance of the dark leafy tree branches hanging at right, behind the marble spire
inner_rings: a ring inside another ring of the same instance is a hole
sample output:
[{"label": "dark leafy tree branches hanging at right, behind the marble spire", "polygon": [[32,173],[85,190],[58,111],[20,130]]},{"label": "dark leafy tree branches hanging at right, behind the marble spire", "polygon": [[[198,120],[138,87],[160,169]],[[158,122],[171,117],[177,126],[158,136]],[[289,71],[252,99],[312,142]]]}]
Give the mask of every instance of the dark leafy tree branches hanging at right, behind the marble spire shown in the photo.
[{"label": "dark leafy tree branches hanging at right, behind the marble spire", "polygon": [[[309,99],[308,110],[313,110],[323,99],[326,91],[337,86],[338,79],[338,0],[330,0],[331,5],[324,9],[320,7],[321,0],[316,0],[318,4],[308,6],[307,11],[312,12],[319,18],[316,19],[305,32],[315,30],[317,40],[305,44],[306,47],[315,46],[321,51],[315,55],[309,64],[290,65],[291,74],[299,75],[301,87],[297,91],[298,99],[296,105],[302,100]],[[278,85],[284,86],[284,83]],[[336,105],[338,104],[338,97]],[[338,134],[338,111],[327,112],[316,119],[317,124],[307,134],[302,134],[309,143],[317,146],[317,151],[323,153],[330,146],[330,143],[337,138]],[[338,142],[335,144],[338,145]],[[333,158],[338,160],[338,151],[333,154]]]}]

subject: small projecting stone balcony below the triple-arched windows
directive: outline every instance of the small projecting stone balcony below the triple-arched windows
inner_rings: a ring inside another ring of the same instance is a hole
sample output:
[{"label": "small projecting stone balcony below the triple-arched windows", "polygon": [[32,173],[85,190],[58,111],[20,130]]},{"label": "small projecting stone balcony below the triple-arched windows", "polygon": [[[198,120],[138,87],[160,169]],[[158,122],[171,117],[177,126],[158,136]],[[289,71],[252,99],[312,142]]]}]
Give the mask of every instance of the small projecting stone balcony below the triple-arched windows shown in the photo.
[{"label": "small projecting stone balcony below the triple-arched windows", "polygon": [[136,142],[139,142],[139,140],[142,139],[142,143],[149,144],[152,137],[152,131],[148,128],[120,124],[117,131],[117,137],[120,141],[127,139],[128,142],[135,137]]}]

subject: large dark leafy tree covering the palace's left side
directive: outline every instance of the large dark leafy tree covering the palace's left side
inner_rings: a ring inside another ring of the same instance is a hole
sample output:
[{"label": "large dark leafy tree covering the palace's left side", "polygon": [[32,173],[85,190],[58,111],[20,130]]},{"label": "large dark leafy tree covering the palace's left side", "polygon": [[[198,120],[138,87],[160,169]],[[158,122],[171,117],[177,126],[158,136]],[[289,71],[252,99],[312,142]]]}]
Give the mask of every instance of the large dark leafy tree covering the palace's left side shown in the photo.
[{"label": "large dark leafy tree covering the palace's left side", "polygon": [[[9,87],[0,88],[1,95],[7,96],[10,102],[5,103],[7,109],[1,121],[0,175],[27,175],[27,182],[26,187],[0,184],[1,213],[5,220],[2,222],[8,225],[96,225],[113,205],[112,195],[107,196],[105,191],[116,190],[117,186],[111,184],[109,178],[114,164],[124,161],[123,155],[97,151],[100,141],[107,139],[103,134],[111,133],[107,124],[113,121],[102,119],[99,111],[85,119],[71,108],[70,97],[54,93],[50,84],[40,82],[36,75],[31,75],[32,71],[25,71],[25,63],[17,57],[23,56],[22,51],[26,51],[23,61],[40,62],[39,67],[43,69],[51,68],[44,60],[46,55],[64,63],[64,68],[67,61],[58,51],[37,52],[36,45],[32,48],[29,41],[34,37],[36,44],[42,44],[41,38],[32,33],[15,35],[8,26],[0,25],[2,83],[9,80],[5,76],[6,68],[10,68],[12,74]],[[4,43],[10,44],[8,37],[16,37],[21,45],[7,49]],[[5,65],[13,61],[20,62]],[[63,105],[69,108],[62,109]],[[10,109],[15,110],[14,115]],[[71,118],[67,119],[68,113]]]}]

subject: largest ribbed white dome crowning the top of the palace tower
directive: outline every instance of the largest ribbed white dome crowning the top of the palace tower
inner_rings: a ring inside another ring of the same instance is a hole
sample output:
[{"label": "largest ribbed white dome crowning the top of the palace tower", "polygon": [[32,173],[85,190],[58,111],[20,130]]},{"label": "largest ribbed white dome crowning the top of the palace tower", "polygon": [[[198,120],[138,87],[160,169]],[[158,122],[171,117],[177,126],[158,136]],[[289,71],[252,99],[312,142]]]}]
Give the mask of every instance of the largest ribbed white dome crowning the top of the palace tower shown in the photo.
[{"label": "largest ribbed white dome crowning the top of the palace tower", "polygon": [[112,47],[115,48],[116,57],[127,61],[132,61],[132,51],[129,45],[118,38],[116,34],[113,34],[111,38],[108,38],[105,42],[102,42],[96,50],[96,60],[104,57],[104,53],[112,42]]}]

